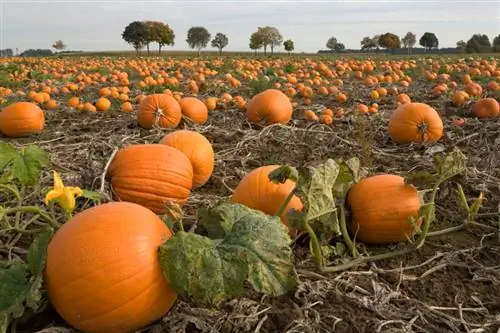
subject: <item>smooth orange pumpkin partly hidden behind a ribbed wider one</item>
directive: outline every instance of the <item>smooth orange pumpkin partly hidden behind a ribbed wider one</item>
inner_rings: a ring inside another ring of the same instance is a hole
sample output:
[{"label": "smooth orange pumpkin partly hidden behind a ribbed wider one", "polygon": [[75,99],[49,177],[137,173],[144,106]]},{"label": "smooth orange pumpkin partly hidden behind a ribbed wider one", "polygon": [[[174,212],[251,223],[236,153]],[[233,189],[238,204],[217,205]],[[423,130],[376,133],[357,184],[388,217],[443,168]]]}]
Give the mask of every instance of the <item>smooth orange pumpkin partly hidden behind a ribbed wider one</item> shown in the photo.
[{"label": "smooth orange pumpkin partly hidden behind a ribbed wider one", "polygon": [[214,171],[215,156],[212,144],[198,132],[179,130],[167,134],[161,144],[183,152],[193,166],[193,187],[204,185]]}]

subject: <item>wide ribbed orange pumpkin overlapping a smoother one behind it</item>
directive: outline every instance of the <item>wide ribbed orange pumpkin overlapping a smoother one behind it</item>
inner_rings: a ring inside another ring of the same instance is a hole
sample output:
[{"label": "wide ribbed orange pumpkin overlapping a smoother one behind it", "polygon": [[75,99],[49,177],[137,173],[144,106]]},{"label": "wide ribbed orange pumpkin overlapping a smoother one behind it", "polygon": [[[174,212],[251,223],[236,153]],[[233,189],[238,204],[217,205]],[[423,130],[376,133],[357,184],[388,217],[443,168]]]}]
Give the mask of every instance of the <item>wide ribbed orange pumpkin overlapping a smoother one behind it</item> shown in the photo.
[{"label": "wide ribbed orange pumpkin overlapping a smoother one behind it", "polygon": [[180,150],[161,144],[140,144],[118,151],[108,168],[113,195],[158,214],[172,201],[186,202],[193,185],[193,167]]}]

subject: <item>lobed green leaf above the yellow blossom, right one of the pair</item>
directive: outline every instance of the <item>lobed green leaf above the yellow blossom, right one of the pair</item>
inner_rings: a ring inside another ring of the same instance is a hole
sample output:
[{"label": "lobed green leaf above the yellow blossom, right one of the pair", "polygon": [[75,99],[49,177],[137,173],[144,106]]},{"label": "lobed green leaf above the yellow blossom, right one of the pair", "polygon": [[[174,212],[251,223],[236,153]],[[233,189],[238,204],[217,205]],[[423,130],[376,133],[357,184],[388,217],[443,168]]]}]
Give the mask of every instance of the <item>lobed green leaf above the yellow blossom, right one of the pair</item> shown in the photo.
[{"label": "lobed green leaf above the yellow blossom, right one of the pair", "polygon": [[47,153],[37,146],[30,145],[14,158],[12,176],[22,185],[34,185],[40,179],[42,168],[49,165]]}]

